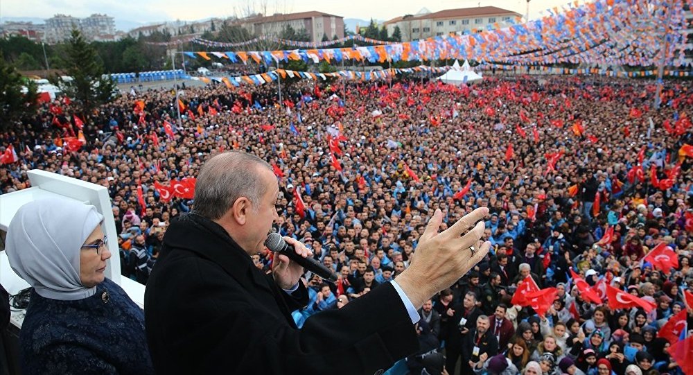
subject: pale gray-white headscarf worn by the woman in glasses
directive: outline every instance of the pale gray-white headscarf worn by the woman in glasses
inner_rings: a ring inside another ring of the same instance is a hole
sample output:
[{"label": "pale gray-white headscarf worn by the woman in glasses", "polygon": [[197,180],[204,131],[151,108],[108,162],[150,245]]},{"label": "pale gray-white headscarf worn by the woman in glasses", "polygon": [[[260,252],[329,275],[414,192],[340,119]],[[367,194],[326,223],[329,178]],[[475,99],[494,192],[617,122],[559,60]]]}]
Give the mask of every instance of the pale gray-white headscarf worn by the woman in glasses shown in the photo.
[{"label": "pale gray-white headscarf worn by the woman in glasses", "polygon": [[103,221],[96,207],[62,198],[19,207],[7,231],[10,266],[42,297],[73,301],[91,297],[96,286],[80,280],[80,251]]}]

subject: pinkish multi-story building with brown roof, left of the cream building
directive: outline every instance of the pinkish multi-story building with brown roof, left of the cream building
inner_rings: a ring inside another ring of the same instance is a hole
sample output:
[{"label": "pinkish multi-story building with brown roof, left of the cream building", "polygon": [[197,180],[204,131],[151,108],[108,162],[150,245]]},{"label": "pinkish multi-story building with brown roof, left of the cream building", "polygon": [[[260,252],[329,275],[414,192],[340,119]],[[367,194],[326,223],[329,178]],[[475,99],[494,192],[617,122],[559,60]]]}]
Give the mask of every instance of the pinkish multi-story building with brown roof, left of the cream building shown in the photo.
[{"label": "pinkish multi-story building with brown roof, left of the cream building", "polygon": [[316,11],[249,17],[238,22],[254,35],[276,36],[286,26],[291,26],[296,31],[306,30],[310,42],[320,42],[323,35],[328,39],[333,39],[335,35],[344,37],[344,17]]}]

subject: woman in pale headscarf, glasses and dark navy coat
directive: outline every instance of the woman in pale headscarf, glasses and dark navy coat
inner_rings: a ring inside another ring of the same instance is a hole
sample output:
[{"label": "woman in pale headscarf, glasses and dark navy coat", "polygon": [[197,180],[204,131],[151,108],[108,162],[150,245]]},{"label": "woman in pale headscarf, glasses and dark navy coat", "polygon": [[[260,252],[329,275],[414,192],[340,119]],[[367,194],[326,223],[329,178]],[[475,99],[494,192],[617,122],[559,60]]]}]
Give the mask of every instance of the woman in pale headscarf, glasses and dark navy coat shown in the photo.
[{"label": "woman in pale headscarf, glasses and dark navy coat", "polygon": [[33,287],[19,333],[22,372],[153,374],[143,311],[105,279],[110,258],[96,207],[35,200],[10,222],[5,250]]}]

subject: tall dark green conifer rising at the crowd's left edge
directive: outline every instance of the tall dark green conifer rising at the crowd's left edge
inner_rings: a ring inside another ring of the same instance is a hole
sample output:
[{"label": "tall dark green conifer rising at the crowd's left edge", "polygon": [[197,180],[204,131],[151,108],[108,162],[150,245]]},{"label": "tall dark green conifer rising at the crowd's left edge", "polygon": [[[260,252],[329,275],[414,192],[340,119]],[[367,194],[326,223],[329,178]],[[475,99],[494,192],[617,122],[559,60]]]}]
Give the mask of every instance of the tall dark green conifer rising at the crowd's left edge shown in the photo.
[{"label": "tall dark green conifer rising at the crowd's left edge", "polygon": [[73,28],[67,42],[67,55],[63,58],[65,73],[71,77],[62,80],[53,76],[51,81],[57,85],[80,107],[82,116],[91,114],[96,106],[107,103],[113,96],[116,85],[109,76],[104,76],[94,47],[90,46],[82,33]]}]

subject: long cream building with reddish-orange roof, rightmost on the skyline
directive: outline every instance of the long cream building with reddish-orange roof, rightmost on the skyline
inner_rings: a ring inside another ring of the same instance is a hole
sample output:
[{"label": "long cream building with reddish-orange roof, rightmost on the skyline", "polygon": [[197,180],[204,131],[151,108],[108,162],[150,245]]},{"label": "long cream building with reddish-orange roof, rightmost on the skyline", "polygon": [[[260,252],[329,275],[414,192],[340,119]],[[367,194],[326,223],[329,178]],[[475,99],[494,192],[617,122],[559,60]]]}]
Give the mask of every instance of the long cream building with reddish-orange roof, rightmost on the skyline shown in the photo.
[{"label": "long cream building with reddish-orange roof, rightmost on the skyline", "polygon": [[447,9],[439,12],[430,12],[424,8],[416,15],[390,19],[385,22],[385,27],[388,35],[392,35],[394,28],[399,26],[402,41],[410,42],[449,33],[486,29],[489,25],[491,27],[505,26],[515,17],[522,17],[522,15],[495,6]]}]

